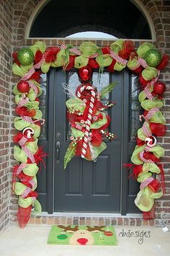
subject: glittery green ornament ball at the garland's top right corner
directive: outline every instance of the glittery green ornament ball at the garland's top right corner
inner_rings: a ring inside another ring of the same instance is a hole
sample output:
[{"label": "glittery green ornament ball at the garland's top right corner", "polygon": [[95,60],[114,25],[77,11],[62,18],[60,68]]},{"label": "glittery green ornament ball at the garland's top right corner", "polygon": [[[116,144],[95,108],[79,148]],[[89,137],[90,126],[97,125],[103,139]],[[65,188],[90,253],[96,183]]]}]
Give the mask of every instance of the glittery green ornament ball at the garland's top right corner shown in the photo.
[{"label": "glittery green ornament ball at the garland's top right corner", "polygon": [[147,51],[144,60],[146,61],[148,66],[155,68],[161,62],[161,58],[162,56],[160,51],[158,51],[157,49],[151,49]]}]

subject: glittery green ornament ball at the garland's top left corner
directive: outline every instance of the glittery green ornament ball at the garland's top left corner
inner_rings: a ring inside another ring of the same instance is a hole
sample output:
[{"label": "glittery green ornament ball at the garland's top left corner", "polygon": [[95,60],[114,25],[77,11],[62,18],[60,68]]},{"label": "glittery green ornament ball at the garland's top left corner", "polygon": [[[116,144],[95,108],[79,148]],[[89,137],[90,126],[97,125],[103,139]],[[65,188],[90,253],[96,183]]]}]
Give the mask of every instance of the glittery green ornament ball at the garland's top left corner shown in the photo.
[{"label": "glittery green ornament ball at the garland's top left corner", "polygon": [[22,48],[17,55],[18,61],[22,65],[30,65],[34,61],[34,53],[29,48]]}]

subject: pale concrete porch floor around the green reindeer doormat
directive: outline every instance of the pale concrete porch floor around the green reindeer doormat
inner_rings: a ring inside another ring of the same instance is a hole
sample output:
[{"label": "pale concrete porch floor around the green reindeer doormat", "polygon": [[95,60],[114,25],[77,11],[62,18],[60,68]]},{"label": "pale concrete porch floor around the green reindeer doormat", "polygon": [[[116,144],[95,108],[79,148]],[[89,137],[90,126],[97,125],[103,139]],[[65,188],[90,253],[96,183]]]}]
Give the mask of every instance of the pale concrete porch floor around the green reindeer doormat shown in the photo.
[{"label": "pale concrete porch floor around the green reindeer doormat", "polygon": [[[122,237],[125,232],[142,231],[151,237]],[[9,226],[0,236],[1,256],[168,256],[170,255],[170,231],[155,226],[115,226],[117,246],[63,246],[47,244],[50,226]],[[141,244],[139,244],[139,242]],[[143,243],[142,243],[143,242]]]}]

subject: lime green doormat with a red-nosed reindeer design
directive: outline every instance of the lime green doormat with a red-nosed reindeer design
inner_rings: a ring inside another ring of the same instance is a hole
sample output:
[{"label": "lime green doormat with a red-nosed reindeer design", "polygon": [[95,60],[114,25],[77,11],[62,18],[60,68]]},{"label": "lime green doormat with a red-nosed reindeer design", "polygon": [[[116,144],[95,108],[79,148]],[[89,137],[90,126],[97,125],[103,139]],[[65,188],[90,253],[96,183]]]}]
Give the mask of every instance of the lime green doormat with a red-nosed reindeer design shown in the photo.
[{"label": "lime green doormat with a red-nosed reindeer design", "polygon": [[63,226],[53,225],[48,244],[117,245],[113,226]]}]

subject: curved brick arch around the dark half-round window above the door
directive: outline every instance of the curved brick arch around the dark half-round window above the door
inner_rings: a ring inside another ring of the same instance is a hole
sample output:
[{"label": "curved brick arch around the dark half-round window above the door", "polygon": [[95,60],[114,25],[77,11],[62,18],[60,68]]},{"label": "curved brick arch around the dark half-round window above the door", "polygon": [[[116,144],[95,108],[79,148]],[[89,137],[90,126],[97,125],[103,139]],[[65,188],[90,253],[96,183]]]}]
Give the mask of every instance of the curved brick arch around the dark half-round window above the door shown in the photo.
[{"label": "curved brick arch around the dark half-round window above the door", "polygon": [[[34,21],[36,15],[42,9],[45,4],[49,1],[39,0],[39,1],[27,1],[25,4],[22,1],[21,4],[16,4],[15,6],[15,21],[14,21],[14,45],[21,46],[25,44],[24,39],[27,39],[27,35],[30,32],[30,27]],[[140,1],[133,0],[133,3],[138,6],[138,9],[145,14],[148,24],[151,27],[152,39],[153,41],[158,41],[161,43],[161,47],[164,45],[164,32],[163,23],[164,20],[158,11],[158,6],[156,1]],[[163,3],[164,4],[164,3]],[[161,4],[161,8],[164,10],[164,6]]]}]

